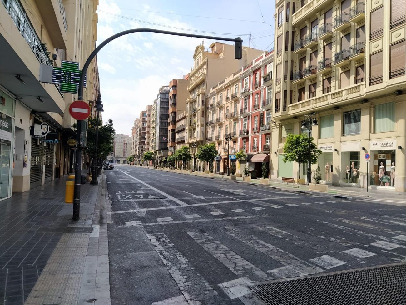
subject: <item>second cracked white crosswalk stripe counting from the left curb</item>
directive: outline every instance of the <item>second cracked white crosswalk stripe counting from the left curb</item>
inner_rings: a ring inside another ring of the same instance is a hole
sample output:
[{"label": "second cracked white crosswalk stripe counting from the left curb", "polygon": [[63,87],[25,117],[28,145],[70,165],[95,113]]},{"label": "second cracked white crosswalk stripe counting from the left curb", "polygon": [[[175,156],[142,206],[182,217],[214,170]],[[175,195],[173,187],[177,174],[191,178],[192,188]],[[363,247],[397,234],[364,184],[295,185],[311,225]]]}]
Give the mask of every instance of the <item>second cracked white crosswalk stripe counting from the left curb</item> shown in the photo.
[{"label": "second cracked white crosswalk stripe counting from the left curb", "polygon": [[188,235],[235,275],[255,281],[261,281],[268,277],[261,269],[215,240],[211,235],[197,232],[188,232]]}]

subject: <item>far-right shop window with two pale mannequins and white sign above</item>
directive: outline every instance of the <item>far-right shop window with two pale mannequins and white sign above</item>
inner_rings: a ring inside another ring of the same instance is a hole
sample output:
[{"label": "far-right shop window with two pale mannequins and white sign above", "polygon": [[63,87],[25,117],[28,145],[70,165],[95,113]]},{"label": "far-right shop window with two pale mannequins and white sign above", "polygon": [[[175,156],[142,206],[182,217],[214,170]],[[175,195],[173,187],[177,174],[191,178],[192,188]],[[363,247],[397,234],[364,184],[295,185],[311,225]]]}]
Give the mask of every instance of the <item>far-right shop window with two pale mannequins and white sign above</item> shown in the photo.
[{"label": "far-right shop window with two pale mannequins and white sign above", "polygon": [[369,141],[369,184],[395,190],[396,139]]}]

